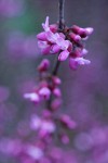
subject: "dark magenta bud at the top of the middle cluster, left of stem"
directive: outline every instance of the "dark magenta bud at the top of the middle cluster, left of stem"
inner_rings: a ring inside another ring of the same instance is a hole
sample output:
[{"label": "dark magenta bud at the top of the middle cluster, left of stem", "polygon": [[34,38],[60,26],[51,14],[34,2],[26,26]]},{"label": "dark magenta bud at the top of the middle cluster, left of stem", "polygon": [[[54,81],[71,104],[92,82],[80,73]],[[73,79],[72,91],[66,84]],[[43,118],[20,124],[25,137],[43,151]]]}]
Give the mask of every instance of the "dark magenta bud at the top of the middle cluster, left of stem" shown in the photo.
[{"label": "dark magenta bud at the top of the middle cluster, left of stem", "polygon": [[44,60],[42,60],[42,62],[38,66],[38,71],[39,72],[45,72],[49,70],[49,67],[50,67],[50,61],[44,59]]}]

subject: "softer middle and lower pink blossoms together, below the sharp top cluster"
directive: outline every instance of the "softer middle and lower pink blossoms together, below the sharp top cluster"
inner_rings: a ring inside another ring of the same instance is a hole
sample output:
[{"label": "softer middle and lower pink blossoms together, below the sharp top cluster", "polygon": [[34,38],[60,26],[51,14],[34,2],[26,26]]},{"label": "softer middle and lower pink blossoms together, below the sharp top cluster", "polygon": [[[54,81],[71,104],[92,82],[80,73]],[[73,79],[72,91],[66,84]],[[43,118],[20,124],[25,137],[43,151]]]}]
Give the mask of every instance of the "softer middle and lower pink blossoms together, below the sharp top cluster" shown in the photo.
[{"label": "softer middle and lower pink blossoms together, below the sharp top cluster", "polygon": [[[39,84],[33,91],[25,93],[24,97],[30,101],[40,103],[46,101],[46,106],[41,111],[41,115],[33,115],[31,117],[30,127],[37,131],[39,141],[54,142],[54,137],[58,138],[62,143],[69,142],[67,130],[76,128],[76,122],[67,114],[56,114],[62,104],[62,92],[59,89],[60,79],[56,75],[49,73],[50,61],[43,59],[38,66]],[[59,126],[59,130],[57,130]]]}]

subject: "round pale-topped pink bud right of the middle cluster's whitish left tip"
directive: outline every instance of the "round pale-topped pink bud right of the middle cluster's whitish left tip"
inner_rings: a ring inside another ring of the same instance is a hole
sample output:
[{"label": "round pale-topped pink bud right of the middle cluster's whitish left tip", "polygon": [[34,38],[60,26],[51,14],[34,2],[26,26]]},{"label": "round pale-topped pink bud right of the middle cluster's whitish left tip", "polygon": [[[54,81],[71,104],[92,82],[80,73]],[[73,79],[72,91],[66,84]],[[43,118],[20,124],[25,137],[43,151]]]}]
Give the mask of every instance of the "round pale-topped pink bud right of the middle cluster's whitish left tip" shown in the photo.
[{"label": "round pale-topped pink bud right of the middle cluster's whitish left tip", "polygon": [[51,95],[51,90],[46,87],[43,87],[39,90],[39,95],[41,97],[43,97],[44,99],[49,99],[50,98],[50,95]]}]

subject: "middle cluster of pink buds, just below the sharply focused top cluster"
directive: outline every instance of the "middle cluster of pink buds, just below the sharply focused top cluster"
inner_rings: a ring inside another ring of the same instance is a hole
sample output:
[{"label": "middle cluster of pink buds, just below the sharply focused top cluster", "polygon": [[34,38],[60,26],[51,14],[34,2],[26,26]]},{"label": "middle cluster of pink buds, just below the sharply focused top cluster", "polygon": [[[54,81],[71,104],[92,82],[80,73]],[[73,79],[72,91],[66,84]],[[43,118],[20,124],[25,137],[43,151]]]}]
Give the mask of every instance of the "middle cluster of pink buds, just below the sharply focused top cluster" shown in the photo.
[{"label": "middle cluster of pink buds, just below the sharply focused top cluster", "polygon": [[55,96],[55,98],[57,98],[56,101],[58,101],[58,99],[60,100],[62,92],[58,88],[58,85],[60,85],[62,82],[57,76],[50,75],[48,72],[49,68],[50,61],[43,59],[40,65],[38,66],[38,72],[40,74],[40,83],[38,86],[36,86],[33,91],[24,95],[26,99],[29,99],[35,103],[39,103],[42,100],[49,100],[51,95],[53,95]]}]

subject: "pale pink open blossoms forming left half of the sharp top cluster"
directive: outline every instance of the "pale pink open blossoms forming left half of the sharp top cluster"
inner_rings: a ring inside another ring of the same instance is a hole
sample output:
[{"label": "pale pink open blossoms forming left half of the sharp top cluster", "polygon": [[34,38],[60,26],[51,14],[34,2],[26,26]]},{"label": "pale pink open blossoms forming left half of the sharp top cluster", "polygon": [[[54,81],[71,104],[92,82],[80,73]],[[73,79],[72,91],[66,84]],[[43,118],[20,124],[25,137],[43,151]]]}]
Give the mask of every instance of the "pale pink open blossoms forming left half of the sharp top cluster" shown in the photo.
[{"label": "pale pink open blossoms forming left half of the sharp top cluster", "polygon": [[[49,17],[46,17],[45,23],[43,23],[42,26],[44,32],[37,35],[37,38],[39,39],[38,46],[41,49],[42,53],[57,53],[60,50],[66,54],[69,53],[66,50],[69,48],[71,42],[69,40],[65,40],[64,34],[53,33],[50,29]],[[65,57],[63,57],[64,60]]]}]

